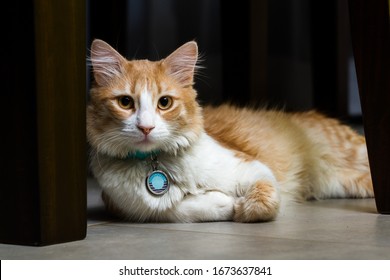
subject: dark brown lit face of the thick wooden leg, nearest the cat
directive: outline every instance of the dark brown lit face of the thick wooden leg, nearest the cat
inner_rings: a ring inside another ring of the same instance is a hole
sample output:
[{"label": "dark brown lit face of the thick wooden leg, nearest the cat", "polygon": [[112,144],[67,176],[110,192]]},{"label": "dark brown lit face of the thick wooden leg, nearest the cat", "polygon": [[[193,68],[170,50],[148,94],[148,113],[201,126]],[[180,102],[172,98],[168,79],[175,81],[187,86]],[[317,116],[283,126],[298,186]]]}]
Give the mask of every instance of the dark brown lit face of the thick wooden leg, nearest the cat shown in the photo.
[{"label": "dark brown lit face of the thick wooden leg, nearest the cat", "polygon": [[42,243],[86,230],[85,1],[35,1]]}]

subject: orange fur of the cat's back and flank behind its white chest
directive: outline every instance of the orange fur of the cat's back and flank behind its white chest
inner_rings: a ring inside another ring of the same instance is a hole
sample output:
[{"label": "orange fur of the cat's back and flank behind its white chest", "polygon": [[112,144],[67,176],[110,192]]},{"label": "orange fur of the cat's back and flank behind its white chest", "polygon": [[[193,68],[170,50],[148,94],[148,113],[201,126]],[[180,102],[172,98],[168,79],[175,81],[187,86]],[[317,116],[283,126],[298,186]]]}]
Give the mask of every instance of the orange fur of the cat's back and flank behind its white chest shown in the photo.
[{"label": "orange fur of the cat's back and flank behind its white chest", "polygon": [[[282,191],[298,190],[299,199],[331,197],[312,188],[335,181],[349,197],[373,196],[364,137],[335,119],[222,105],[206,107],[204,123],[222,145],[270,167]],[[326,176],[333,178],[322,182]]]}]

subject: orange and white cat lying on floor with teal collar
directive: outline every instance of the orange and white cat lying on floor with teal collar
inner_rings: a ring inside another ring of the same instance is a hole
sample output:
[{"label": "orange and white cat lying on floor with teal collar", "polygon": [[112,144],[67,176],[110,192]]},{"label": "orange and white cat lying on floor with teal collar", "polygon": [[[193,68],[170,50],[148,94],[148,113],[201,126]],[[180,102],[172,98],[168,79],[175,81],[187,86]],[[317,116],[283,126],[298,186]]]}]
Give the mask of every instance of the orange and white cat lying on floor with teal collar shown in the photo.
[{"label": "orange and white cat lying on floor with teal collar", "polygon": [[[365,139],[315,111],[197,102],[198,46],[160,61],[91,44],[90,166],[133,222],[265,222],[295,200],[373,197]],[[284,195],[283,195],[284,197]]]}]

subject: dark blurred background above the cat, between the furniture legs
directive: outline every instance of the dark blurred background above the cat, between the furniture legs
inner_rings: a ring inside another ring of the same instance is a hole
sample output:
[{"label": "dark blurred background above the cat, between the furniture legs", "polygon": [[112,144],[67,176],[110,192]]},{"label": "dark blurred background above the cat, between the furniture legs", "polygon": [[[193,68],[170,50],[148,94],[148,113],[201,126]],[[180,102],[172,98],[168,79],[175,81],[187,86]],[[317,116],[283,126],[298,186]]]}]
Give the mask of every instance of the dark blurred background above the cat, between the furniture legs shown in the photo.
[{"label": "dark blurred background above the cat, between the furniture legs", "polygon": [[346,0],[89,1],[87,47],[158,60],[196,40],[203,104],[231,101],[360,119]]}]

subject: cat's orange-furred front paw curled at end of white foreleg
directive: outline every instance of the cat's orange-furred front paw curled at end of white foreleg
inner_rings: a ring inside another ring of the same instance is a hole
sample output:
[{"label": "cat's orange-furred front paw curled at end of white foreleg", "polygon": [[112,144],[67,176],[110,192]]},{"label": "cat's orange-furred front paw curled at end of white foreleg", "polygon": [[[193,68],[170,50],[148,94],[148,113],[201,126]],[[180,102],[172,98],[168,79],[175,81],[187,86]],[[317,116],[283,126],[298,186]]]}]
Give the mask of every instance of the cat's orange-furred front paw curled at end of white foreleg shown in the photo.
[{"label": "cat's orange-furred front paw curled at end of white foreleg", "polygon": [[252,223],[274,220],[279,212],[280,199],[275,188],[268,183],[256,183],[245,197],[234,204],[235,222]]}]

